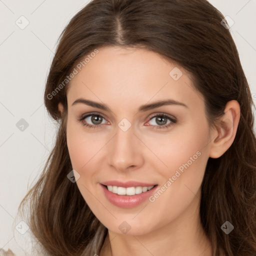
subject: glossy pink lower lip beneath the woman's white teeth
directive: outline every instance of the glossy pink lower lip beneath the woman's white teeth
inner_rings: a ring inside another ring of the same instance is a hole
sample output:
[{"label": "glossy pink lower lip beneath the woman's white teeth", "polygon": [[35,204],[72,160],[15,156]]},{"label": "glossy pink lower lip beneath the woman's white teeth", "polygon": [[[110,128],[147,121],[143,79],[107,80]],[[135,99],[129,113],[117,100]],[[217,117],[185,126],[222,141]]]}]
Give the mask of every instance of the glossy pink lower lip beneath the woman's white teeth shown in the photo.
[{"label": "glossy pink lower lip beneath the woman's white teeth", "polygon": [[100,186],[102,187],[106,198],[115,206],[122,208],[131,208],[139,205],[140,203],[148,199],[149,196],[151,196],[158,187],[158,185],[155,185],[150,190],[147,190],[146,192],[142,192],[140,194],[119,195],[108,191],[108,189],[102,184],[100,184]]}]

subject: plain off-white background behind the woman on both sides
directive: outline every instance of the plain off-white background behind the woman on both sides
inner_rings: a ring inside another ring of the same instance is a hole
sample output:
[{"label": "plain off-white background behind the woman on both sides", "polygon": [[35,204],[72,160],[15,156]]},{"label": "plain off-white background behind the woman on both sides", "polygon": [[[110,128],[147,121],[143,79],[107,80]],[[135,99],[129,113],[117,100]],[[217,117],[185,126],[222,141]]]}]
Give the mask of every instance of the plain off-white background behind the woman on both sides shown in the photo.
[{"label": "plain off-white background behind the woman on both sides", "polygon": [[[21,245],[14,249],[13,219],[43,168],[56,131],[43,105],[47,72],[58,36],[87,2],[0,0],[0,248],[18,255]],[[231,34],[256,104],[256,1],[209,2],[234,21]],[[24,29],[15,23],[21,15],[29,21]],[[28,123],[23,131],[16,127],[21,118]]]}]

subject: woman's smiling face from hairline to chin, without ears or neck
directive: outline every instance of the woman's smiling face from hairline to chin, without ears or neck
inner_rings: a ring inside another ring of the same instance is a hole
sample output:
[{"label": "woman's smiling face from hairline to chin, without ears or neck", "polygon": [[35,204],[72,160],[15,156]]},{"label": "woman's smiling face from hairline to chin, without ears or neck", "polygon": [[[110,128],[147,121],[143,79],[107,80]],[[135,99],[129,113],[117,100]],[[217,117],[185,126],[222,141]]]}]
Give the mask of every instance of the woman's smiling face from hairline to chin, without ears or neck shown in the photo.
[{"label": "woman's smiling face from hairline to chin, without ears or neck", "polygon": [[187,71],[121,47],[99,48],[84,63],[67,91],[67,146],[90,209],[109,230],[133,235],[189,218],[212,134]]}]

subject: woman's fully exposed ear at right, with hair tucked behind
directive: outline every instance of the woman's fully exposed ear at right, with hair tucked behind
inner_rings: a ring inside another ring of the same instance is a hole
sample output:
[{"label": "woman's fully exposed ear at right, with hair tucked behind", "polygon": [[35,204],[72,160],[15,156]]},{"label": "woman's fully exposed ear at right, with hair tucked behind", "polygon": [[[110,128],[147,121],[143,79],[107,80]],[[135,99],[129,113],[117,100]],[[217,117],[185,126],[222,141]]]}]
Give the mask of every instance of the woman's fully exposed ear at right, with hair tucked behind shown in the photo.
[{"label": "woman's fully exposed ear at right, with hair tucked behind", "polygon": [[226,103],[224,115],[217,124],[217,135],[211,141],[209,157],[220,157],[233,143],[240,119],[240,105],[236,100]]}]

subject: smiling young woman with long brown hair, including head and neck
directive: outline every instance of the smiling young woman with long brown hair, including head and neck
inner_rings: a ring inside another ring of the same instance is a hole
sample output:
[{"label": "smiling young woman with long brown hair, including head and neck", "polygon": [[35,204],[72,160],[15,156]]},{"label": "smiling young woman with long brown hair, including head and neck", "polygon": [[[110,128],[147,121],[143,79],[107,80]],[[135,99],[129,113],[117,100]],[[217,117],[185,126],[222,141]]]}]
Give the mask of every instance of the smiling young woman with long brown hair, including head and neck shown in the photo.
[{"label": "smiling young woman with long brown hair, including head and neck", "polygon": [[20,205],[44,254],[256,255],[253,103],[227,28],[206,0],[71,19],[44,94],[55,146]]}]

